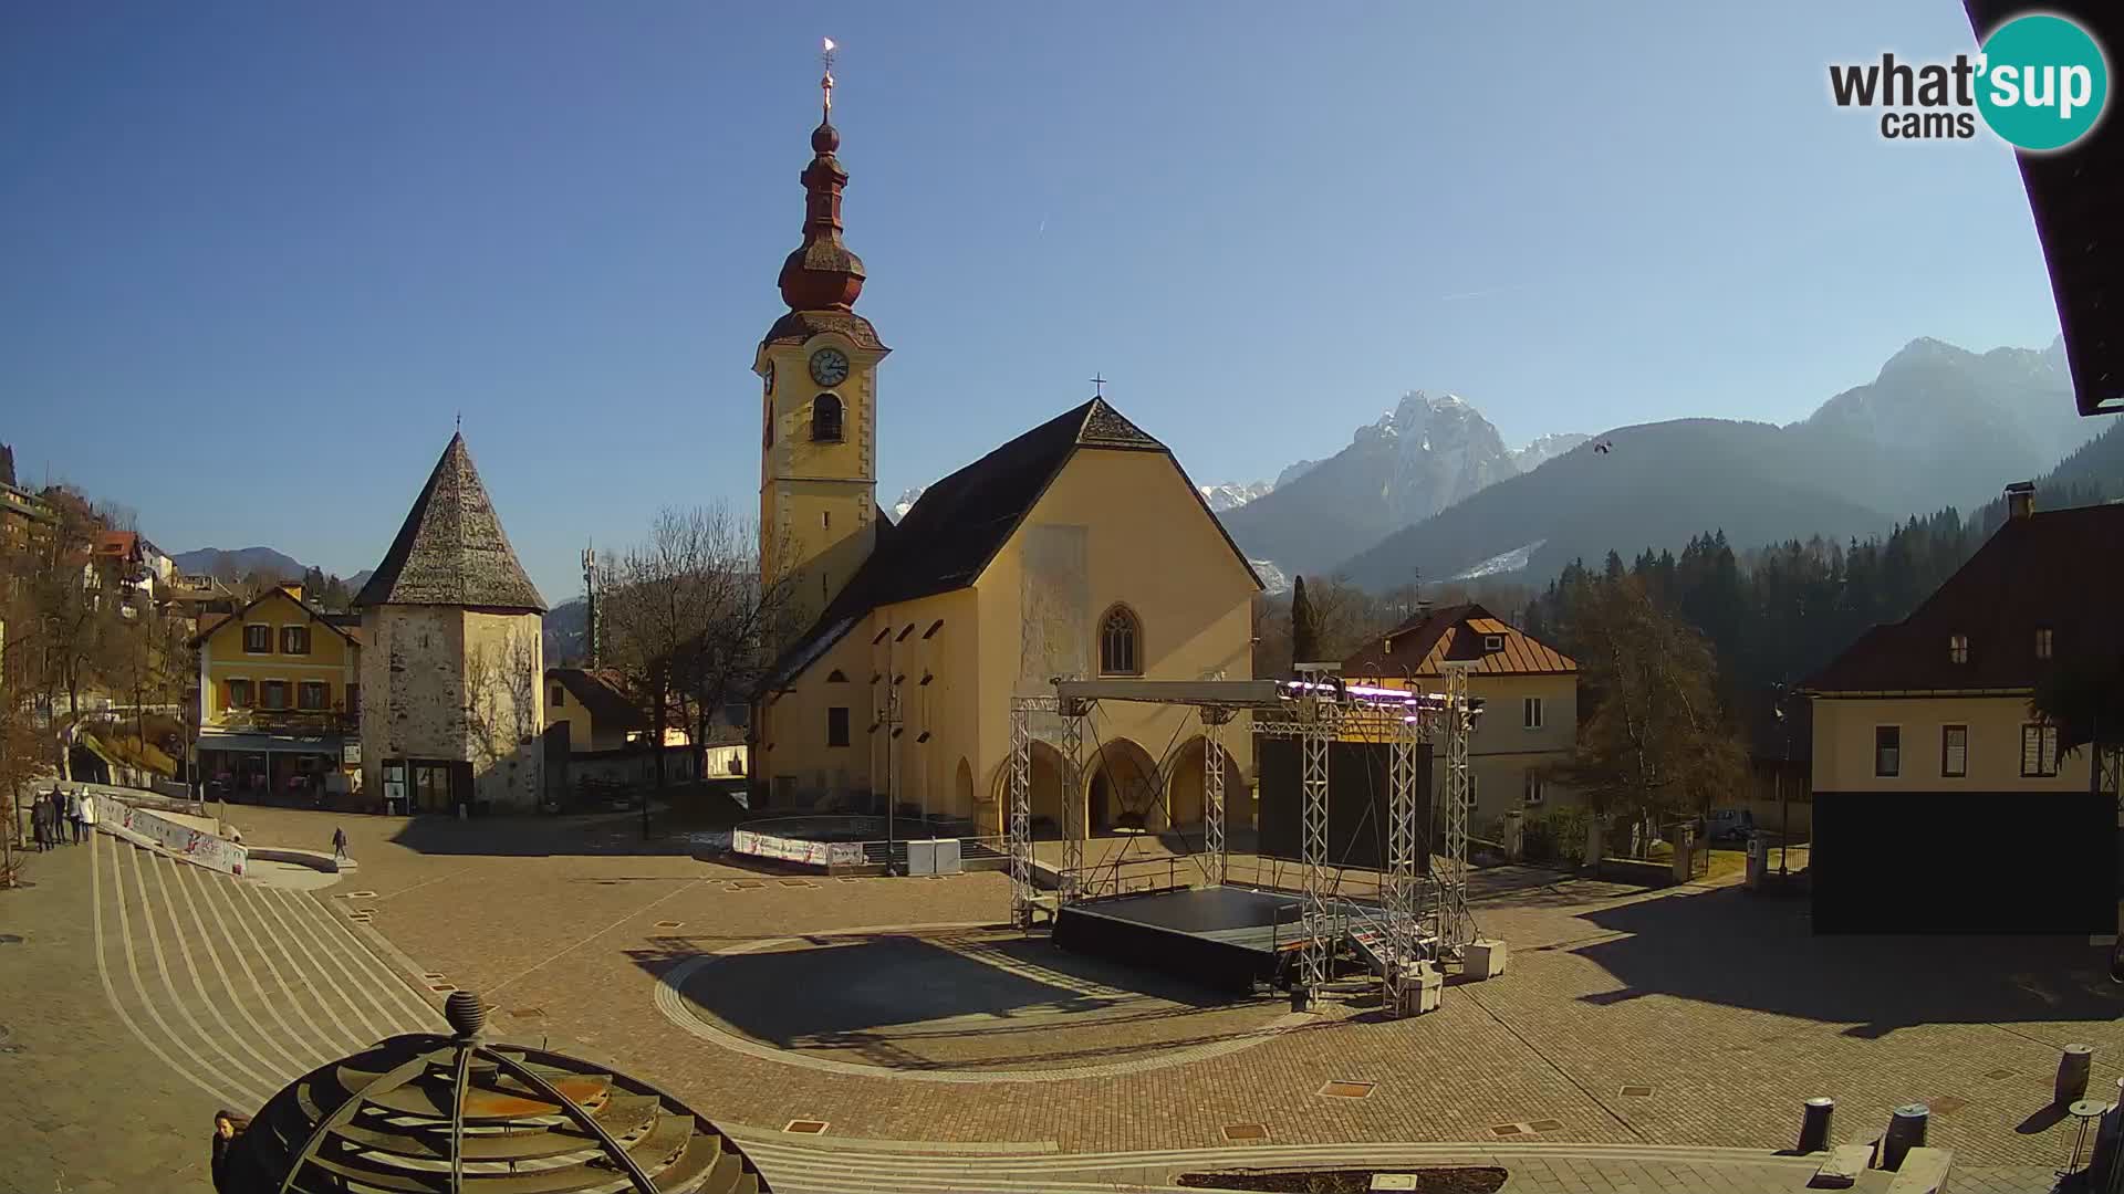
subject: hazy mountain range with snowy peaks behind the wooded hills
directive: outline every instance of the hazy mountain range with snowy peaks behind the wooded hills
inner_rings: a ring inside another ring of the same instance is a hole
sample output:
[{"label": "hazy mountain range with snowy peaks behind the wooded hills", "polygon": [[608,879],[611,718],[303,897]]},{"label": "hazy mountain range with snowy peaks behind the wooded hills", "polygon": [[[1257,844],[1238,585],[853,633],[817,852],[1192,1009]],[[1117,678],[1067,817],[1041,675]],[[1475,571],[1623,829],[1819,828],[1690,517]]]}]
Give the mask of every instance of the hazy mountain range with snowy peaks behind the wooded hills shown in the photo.
[{"label": "hazy mountain range with snowy peaks behind the wooded hills", "polygon": [[1468,402],[1412,393],[1351,446],[1221,514],[1249,557],[1366,589],[1529,572],[1610,548],[1867,535],[2026,480],[2092,438],[2062,342],[1969,353],[1920,338],[1776,427],[1678,419],[1508,453]]}]

